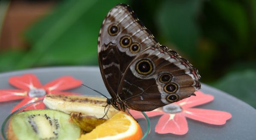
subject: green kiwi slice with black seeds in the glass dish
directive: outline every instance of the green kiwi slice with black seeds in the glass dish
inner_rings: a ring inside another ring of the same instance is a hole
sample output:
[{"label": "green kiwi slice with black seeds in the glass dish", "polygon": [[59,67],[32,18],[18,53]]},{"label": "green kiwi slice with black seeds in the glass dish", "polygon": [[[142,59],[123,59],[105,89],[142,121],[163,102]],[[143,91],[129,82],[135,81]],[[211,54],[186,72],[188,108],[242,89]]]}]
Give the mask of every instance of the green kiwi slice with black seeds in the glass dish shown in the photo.
[{"label": "green kiwi slice with black seeds in the glass dish", "polygon": [[70,115],[51,109],[29,110],[12,116],[7,132],[9,140],[76,140],[79,126]]}]

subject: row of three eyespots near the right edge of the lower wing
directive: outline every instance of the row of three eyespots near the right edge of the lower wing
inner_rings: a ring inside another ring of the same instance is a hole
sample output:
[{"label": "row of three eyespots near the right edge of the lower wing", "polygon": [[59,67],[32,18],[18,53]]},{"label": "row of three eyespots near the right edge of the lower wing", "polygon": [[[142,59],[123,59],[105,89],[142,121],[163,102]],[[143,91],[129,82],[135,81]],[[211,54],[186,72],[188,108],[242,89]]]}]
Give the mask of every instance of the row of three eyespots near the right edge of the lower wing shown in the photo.
[{"label": "row of three eyespots near the right edge of the lower wing", "polygon": [[169,83],[172,80],[172,75],[169,73],[163,74],[160,76],[159,81],[161,83],[168,83],[163,87],[163,90],[166,93],[170,93],[170,95],[166,96],[166,100],[169,101],[170,103],[177,101],[178,95],[175,94],[175,92],[178,89],[177,84],[175,83]]}]

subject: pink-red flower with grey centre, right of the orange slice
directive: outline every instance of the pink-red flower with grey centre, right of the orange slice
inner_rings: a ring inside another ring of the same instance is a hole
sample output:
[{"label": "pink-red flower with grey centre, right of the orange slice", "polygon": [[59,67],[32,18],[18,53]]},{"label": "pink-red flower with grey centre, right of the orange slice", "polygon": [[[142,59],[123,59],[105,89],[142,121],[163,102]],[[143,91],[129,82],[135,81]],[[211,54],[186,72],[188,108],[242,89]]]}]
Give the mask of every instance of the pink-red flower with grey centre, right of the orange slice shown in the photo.
[{"label": "pink-red flower with grey centre, right of the orange slice", "polygon": [[[186,117],[214,125],[223,125],[232,117],[228,112],[191,108],[206,104],[214,99],[212,95],[204,94],[200,91],[195,92],[195,94],[196,96],[145,112],[148,117],[162,115],[155,127],[155,132],[160,134],[186,134],[189,130]],[[137,116],[137,111],[131,110],[131,114],[134,118],[141,118]]]}]

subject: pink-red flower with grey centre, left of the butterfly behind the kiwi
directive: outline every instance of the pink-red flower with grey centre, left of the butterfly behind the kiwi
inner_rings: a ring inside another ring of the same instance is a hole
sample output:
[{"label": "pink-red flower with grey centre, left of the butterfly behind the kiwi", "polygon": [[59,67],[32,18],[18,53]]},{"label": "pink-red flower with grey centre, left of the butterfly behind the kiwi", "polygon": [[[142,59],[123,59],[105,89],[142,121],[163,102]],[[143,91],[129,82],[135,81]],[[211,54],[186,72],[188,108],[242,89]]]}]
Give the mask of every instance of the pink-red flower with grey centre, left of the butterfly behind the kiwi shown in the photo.
[{"label": "pink-red flower with grey centre, left of the butterfly behind the kiwi", "polygon": [[[0,102],[23,99],[12,109],[11,112],[14,112],[21,106],[43,99],[46,94],[77,94],[62,91],[79,87],[82,81],[76,80],[71,76],[62,76],[42,86],[34,74],[25,74],[9,78],[9,83],[20,90],[0,90]],[[37,104],[33,108],[44,109],[45,106],[44,104]]]}]

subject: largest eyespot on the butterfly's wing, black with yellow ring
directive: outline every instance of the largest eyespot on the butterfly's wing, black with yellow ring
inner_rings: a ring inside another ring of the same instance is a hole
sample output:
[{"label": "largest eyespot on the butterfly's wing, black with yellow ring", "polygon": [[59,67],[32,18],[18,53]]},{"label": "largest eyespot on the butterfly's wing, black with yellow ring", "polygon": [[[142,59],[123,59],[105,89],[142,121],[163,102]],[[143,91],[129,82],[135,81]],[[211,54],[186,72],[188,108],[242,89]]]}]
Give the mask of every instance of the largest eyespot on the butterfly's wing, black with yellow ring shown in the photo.
[{"label": "largest eyespot on the butterfly's wing, black with yellow ring", "polygon": [[142,75],[148,75],[153,71],[152,63],[147,59],[142,59],[136,64],[136,70]]}]

